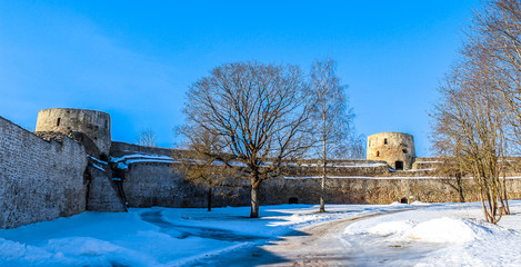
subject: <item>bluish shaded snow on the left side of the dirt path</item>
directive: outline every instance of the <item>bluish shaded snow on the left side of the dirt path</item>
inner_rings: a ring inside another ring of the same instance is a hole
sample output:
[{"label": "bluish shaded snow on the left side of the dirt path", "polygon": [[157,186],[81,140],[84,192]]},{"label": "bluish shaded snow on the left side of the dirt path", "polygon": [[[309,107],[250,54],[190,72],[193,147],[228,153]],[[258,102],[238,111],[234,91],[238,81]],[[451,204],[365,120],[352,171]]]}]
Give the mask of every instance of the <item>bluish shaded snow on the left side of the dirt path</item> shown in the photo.
[{"label": "bluish shaded snow on the left side of the dirt path", "polygon": [[389,205],[280,205],[93,212],[0,230],[0,266],[181,266],[267,243],[292,229],[407,208]]}]

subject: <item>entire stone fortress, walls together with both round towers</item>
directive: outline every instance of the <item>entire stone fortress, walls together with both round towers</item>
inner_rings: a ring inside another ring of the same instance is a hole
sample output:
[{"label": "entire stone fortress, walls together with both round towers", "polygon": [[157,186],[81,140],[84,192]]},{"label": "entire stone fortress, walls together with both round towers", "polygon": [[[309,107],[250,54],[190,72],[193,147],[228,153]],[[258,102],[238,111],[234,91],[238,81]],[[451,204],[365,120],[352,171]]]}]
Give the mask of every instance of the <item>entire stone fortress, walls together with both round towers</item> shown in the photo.
[{"label": "entire stone fortress, walls together with both round towers", "polygon": [[[80,214],[132,207],[204,207],[204,188],[176,171],[179,150],[111,140],[108,113],[46,109],[36,132],[0,117],[0,228]],[[329,204],[458,201],[458,194],[431,170],[435,158],[418,158],[411,135],[368,138],[367,160],[334,160],[328,167]],[[318,161],[294,165],[261,186],[261,205],[317,204]],[[468,184],[472,181],[469,180]],[[521,179],[508,179],[510,198],[521,197]],[[214,206],[248,206],[250,190],[216,196]],[[467,191],[468,200],[478,200]]]}]

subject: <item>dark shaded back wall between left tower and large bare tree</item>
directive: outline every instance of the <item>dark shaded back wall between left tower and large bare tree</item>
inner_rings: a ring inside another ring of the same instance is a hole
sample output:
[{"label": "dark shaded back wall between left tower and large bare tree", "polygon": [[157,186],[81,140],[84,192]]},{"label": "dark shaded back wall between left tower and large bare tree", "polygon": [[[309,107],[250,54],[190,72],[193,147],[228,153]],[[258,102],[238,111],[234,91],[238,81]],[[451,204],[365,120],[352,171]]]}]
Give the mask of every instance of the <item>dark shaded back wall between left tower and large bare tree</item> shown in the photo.
[{"label": "dark shaded back wall between left tower and large bare tree", "polygon": [[[121,178],[129,207],[194,207],[207,206],[206,188],[186,180],[171,158],[180,150],[112,142],[114,177]],[[159,156],[159,157],[158,157]],[[118,167],[119,166],[119,167]],[[217,189],[213,206],[244,206],[249,188]]]}]

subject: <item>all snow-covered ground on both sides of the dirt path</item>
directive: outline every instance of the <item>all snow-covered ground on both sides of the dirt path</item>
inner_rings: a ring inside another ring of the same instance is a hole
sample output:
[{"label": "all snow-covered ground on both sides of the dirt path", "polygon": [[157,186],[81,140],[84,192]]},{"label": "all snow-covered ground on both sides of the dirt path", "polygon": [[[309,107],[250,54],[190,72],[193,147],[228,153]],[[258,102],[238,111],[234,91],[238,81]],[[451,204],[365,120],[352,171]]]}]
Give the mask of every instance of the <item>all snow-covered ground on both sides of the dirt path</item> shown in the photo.
[{"label": "all snow-covered ground on both sides of the dirt path", "polygon": [[419,209],[350,222],[328,238],[358,266],[519,266],[521,201],[511,205],[514,215],[499,226],[480,220],[478,204],[329,205],[328,214],[310,205],[265,206],[261,219],[248,218],[249,207],[83,212],[0,230],[0,266],[214,265],[321,222],[411,207]]}]

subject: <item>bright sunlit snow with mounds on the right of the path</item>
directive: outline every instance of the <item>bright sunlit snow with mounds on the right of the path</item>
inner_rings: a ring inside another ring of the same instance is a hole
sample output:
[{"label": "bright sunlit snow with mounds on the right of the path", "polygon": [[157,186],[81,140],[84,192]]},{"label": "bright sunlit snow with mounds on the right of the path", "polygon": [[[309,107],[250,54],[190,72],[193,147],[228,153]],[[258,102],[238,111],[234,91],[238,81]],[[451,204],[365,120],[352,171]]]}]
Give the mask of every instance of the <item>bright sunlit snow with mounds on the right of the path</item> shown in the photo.
[{"label": "bright sunlit snow with mounds on the right of the path", "polygon": [[[369,218],[345,228],[342,239],[359,261],[391,266],[519,266],[521,201],[498,225],[482,220],[479,202],[432,204]],[[371,247],[374,250],[364,248]],[[372,264],[369,264],[371,266]]]}]

